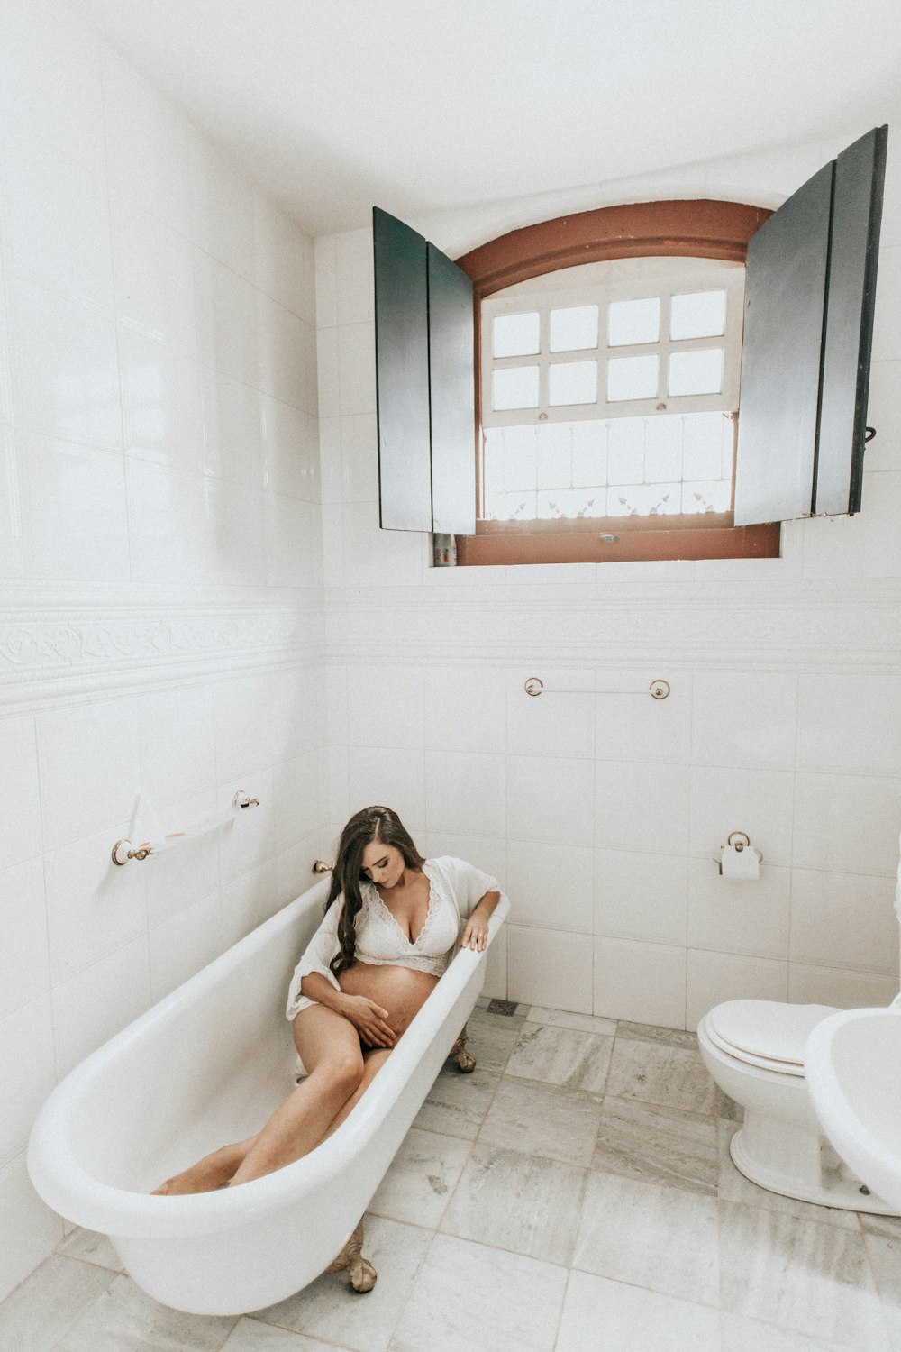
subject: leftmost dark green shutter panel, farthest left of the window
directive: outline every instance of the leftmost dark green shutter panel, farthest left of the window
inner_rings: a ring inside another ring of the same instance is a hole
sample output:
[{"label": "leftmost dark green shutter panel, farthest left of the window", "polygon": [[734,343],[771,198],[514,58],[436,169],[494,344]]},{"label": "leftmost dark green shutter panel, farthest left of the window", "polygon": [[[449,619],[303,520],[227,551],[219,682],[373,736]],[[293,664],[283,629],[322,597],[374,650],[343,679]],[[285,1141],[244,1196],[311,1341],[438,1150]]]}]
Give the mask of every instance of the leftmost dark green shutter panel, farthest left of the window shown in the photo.
[{"label": "leftmost dark green shutter panel, farthest left of the window", "polygon": [[373,208],[376,393],[382,530],[431,530],[426,241]]}]

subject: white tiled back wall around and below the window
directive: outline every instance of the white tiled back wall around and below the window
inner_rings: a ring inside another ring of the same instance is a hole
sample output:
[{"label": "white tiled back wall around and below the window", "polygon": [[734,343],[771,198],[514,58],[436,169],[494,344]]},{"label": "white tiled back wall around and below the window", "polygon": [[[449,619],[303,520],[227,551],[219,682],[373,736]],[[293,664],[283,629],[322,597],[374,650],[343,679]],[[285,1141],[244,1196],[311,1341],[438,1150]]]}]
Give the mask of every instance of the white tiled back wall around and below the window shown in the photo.
[{"label": "white tiled back wall around and below the window", "polygon": [[[863,511],[786,526],[779,560],[431,569],[423,537],[378,530],[369,231],[316,242],[331,825],[388,802],[504,879],[497,994],[693,1028],[733,996],[897,990],[898,158]],[[800,172],[712,165],[696,191],[728,173],[769,203]],[[462,228],[430,235],[453,254]],[[666,700],[621,694],[658,676]],[[717,873],[735,829],[756,883]]]}]

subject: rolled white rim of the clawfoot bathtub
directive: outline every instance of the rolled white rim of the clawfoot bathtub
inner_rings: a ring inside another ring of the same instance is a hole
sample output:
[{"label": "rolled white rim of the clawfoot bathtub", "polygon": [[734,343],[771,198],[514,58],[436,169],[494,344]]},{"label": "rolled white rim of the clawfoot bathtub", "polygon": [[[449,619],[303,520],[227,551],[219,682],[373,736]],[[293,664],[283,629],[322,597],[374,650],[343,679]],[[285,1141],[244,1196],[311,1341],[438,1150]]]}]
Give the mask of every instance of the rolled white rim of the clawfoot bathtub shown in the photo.
[{"label": "rolled white rim of the clawfoot bathtub", "polygon": [[293,1164],[243,1183],[235,1191],[196,1192],[185,1197],[153,1194],[113,1187],[96,1179],[74,1156],[70,1124],[86,1110],[93,1084],[104,1068],[138,1048],[154,1026],[195,1003],[215,984],[216,976],[236,961],[249,959],[286,927],[296,913],[324,898],[328,879],[313,884],[276,915],[239,940],[182,986],[146,1010],[107,1042],[76,1065],[51,1091],[41,1109],[28,1140],[27,1167],[43,1202],[66,1220],[103,1234],[131,1238],[186,1238],[216,1230],[238,1229],[249,1220],[270,1215],[313,1190],[336,1183],[361,1149],[374,1137],[403,1090],[409,1072],[432,1041],[434,1032],[453,1013],[466,984],[480,964],[509,911],[501,899],[490,917],[485,950],[458,949],[447,972],[412,1019],[404,1037],[378,1075],[378,1094],[366,1094],[338,1130],[328,1149],[317,1148]]}]

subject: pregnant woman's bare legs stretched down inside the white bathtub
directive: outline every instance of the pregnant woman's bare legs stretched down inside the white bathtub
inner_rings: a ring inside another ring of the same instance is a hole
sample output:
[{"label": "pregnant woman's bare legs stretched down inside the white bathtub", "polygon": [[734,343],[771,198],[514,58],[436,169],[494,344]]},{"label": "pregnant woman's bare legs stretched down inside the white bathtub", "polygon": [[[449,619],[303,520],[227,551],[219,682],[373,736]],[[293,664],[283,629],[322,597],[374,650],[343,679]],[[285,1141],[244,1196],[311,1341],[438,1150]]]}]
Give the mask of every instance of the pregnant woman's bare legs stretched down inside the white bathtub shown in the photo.
[{"label": "pregnant woman's bare legs stretched down inside the white bathtub", "polygon": [[313,1005],[294,1019],[294,1042],[308,1075],[246,1141],[224,1145],[168,1179],[157,1192],[209,1192],[223,1183],[246,1183],[307,1155],[323,1140],[336,1111],[363,1075],[354,1025]]}]

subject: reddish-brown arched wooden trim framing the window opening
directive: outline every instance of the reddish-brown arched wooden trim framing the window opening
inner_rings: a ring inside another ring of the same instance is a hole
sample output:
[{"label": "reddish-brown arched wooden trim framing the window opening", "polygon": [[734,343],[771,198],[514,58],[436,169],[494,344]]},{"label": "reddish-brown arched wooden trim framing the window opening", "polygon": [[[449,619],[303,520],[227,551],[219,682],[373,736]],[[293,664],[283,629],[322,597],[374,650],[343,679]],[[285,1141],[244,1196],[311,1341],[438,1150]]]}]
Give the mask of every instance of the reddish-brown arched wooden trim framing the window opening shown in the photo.
[{"label": "reddish-brown arched wooden trim framing the window opening", "polygon": [[[463,254],[457,264],[473,280],[475,306],[477,408],[481,408],[484,296],[559,268],[575,268],[608,258],[669,256],[744,262],[748,239],[770,215],[762,207],[738,201],[642,201],[543,220]],[[477,477],[481,470],[481,435],[478,426]],[[600,535],[617,535],[619,539],[602,541]],[[457,537],[457,561],[463,565],[484,565],[648,558],[778,558],[779,538],[779,522],[733,526],[731,512],[704,518],[478,521],[475,535]]]}]

